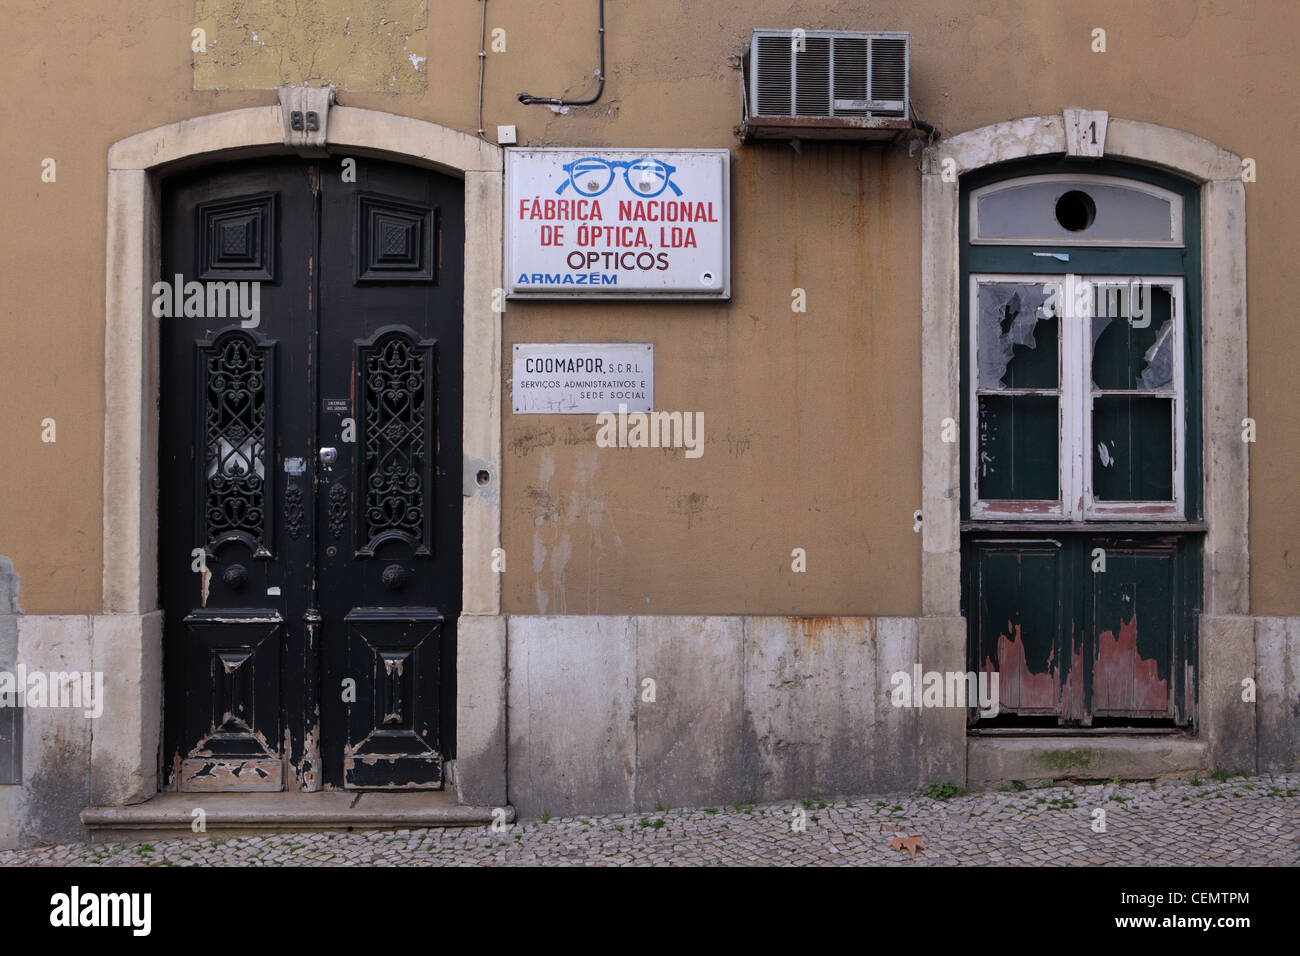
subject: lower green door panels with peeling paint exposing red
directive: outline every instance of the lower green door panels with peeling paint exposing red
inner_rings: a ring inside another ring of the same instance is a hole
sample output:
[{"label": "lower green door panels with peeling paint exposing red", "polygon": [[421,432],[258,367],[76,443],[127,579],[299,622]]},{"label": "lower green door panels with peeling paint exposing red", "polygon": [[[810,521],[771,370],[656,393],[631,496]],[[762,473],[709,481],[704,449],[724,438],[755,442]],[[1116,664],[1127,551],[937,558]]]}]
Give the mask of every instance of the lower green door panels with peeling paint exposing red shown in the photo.
[{"label": "lower green door panels with peeling paint exposing red", "polygon": [[972,669],[998,675],[1010,717],[1188,723],[1197,538],[968,533]]}]

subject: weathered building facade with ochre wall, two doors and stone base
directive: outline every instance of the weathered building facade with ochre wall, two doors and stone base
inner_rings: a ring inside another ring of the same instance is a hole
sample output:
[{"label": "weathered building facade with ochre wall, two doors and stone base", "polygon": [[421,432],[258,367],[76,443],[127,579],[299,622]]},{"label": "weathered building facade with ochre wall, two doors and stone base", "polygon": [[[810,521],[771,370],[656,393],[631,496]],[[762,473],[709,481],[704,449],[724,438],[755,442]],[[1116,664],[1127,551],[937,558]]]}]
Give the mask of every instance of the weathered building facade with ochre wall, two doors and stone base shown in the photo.
[{"label": "weathered building facade with ochre wall, two doors and stone base", "polygon": [[[1291,5],[277,7],[3,40],[0,845],[1300,766]],[[770,27],[910,108],[754,122]],[[705,294],[521,291],[551,148]],[[573,343],[694,446],[521,406]]]}]

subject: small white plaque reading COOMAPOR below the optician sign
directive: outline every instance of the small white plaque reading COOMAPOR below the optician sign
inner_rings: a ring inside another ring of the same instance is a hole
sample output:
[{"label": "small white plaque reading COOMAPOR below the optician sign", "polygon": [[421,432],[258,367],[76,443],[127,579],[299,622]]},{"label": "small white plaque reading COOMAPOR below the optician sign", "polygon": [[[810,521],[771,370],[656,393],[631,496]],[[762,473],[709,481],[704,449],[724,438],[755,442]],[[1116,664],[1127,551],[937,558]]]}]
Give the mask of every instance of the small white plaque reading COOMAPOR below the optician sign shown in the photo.
[{"label": "small white plaque reading COOMAPOR below the optician sign", "polygon": [[654,346],[516,345],[511,392],[521,415],[651,411]]}]

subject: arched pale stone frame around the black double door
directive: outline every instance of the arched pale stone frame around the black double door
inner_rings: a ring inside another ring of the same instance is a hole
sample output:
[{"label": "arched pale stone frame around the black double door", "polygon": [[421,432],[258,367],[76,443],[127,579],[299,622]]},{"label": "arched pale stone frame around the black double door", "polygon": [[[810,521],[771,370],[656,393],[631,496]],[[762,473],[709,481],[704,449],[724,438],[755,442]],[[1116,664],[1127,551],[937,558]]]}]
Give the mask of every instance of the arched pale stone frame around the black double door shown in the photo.
[{"label": "arched pale stone frame around the black double door", "polygon": [[[455,176],[465,189],[464,536],[456,678],[462,803],[506,803],[506,628],[500,578],[502,150],[437,124],[334,107],[333,153],[376,156]],[[134,804],[159,788],[162,622],[157,589],[159,342],[150,290],[160,269],[159,189],[178,169],[292,155],[278,105],[235,109],[139,133],[108,151],[103,611],[96,667],[121,696],[112,732],[91,744],[91,801]],[[109,688],[112,692],[112,688]]]}]

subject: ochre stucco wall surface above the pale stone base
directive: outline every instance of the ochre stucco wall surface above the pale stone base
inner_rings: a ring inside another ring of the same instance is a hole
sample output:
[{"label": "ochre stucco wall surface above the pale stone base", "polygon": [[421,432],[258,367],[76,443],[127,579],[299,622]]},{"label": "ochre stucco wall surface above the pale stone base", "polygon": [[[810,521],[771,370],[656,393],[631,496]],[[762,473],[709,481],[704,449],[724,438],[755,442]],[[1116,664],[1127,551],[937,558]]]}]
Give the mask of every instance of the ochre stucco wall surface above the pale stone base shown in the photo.
[{"label": "ochre stucco wall surface above the pale stone base", "polygon": [[[108,147],[161,124],[274,103],[269,90],[244,87],[291,73],[338,81],[347,105],[477,129],[478,4],[430,4],[422,35],[407,29],[410,0],[368,4],[376,25],[389,10],[404,18],[393,38],[376,31],[364,44],[376,70],[406,70],[400,85],[370,86],[385,92],[355,91],[365,86],[348,75],[355,57],[330,59],[344,40],[321,25],[346,20],[351,5],[303,4],[312,7],[322,10],[295,38],[259,34],[265,46],[247,49],[247,69],[190,49],[198,14],[216,49],[247,46],[248,14],[240,25],[233,17],[248,4],[234,0],[202,0],[199,12],[191,0],[8,12],[0,554],[14,562],[29,614],[100,606]],[[1247,187],[1252,611],[1300,614],[1300,324],[1288,294],[1300,254],[1300,8],[608,0],[602,100],[567,114],[519,104],[520,91],[594,88],[595,7],[489,0],[489,31],[504,27],[507,40],[486,62],[489,137],[515,124],[536,146],[733,147],[733,299],[510,303],[507,377],[515,342],[654,342],[658,406],[702,411],[706,446],[699,459],[597,449],[594,421],[515,416],[504,389],[504,610],[919,611],[919,156],[811,143],[797,155],[785,144],[740,148],[732,135],[738,79],[728,56],[754,27],[802,26],[910,30],[913,101],[944,134],[1078,105],[1257,160]],[[1089,49],[1098,26],[1106,53]],[[426,77],[416,78],[412,52],[426,56]],[[56,183],[40,181],[46,156],[57,160]],[[796,286],[807,291],[806,313],[790,312]],[[53,445],[40,441],[44,418],[57,420]],[[805,575],[789,570],[797,546],[807,550]]]}]

